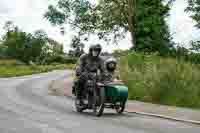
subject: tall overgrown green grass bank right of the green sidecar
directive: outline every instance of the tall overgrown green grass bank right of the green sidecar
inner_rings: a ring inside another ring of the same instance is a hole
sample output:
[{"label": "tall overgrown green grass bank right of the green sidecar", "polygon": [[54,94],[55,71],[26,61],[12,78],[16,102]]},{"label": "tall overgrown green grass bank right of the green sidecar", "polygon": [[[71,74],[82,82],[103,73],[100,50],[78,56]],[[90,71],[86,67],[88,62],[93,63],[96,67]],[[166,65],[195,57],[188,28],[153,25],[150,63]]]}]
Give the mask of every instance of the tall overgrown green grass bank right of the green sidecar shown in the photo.
[{"label": "tall overgrown green grass bank right of the green sidecar", "polygon": [[154,55],[121,57],[120,75],[129,99],[200,108],[200,66]]}]

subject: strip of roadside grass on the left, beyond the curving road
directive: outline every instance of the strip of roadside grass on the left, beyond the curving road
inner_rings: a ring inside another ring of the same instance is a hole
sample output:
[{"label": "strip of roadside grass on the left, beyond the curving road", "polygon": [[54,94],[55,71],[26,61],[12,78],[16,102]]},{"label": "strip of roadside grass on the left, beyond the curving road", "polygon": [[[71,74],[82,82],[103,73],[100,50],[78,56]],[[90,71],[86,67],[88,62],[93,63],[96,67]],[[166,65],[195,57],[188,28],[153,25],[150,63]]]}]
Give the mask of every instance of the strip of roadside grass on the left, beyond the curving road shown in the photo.
[{"label": "strip of roadside grass on the left, beyond the curving road", "polygon": [[73,69],[74,64],[24,65],[16,60],[0,60],[0,77],[17,77],[49,72],[52,70]]}]

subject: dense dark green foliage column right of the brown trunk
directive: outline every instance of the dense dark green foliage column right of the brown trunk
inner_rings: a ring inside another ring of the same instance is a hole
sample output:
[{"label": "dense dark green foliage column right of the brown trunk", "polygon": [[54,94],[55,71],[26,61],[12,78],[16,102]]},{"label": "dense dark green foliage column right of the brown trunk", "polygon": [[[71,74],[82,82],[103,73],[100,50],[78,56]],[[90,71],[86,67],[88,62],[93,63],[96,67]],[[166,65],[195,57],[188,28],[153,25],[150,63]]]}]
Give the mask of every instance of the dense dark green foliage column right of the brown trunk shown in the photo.
[{"label": "dense dark green foliage column right of the brown trunk", "polygon": [[171,47],[171,37],[165,18],[170,4],[161,0],[139,0],[136,16],[136,43],[138,51],[166,53]]}]

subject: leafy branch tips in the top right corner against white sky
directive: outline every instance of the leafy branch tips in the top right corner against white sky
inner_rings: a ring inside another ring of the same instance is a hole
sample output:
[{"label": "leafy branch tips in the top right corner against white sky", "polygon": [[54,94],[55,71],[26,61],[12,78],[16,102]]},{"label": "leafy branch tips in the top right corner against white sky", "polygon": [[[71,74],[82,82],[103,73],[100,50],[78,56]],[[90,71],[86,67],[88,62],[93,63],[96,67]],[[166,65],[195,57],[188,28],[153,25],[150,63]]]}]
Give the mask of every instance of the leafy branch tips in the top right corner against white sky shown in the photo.
[{"label": "leafy branch tips in the top right corner against white sky", "polygon": [[188,0],[188,7],[185,9],[186,12],[190,13],[190,17],[196,21],[196,27],[200,28],[200,1],[199,0]]}]

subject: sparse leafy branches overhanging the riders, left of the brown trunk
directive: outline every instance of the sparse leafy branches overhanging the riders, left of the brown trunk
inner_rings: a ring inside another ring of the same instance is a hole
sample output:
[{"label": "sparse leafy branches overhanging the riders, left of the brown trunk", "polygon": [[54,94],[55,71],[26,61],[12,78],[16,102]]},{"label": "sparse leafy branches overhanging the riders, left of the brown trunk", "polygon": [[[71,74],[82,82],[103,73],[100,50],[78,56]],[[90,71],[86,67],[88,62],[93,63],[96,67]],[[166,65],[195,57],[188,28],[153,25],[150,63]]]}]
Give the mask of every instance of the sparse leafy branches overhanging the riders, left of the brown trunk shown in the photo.
[{"label": "sparse leafy branches overhanging the riders, left of the brown trunk", "polygon": [[115,34],[114,39],[117,39],[117,31],[121,28],[127,31],[127,18],[122,15],[123,3],[116,5],[112,0],[102,0],[94,5],[86,0],[59,0],[57,5],[49,6],[44,17],[52,24],[68,23],[84,34],[97,34],[99,39],[109,40],[105,38],[108,34]]}]

